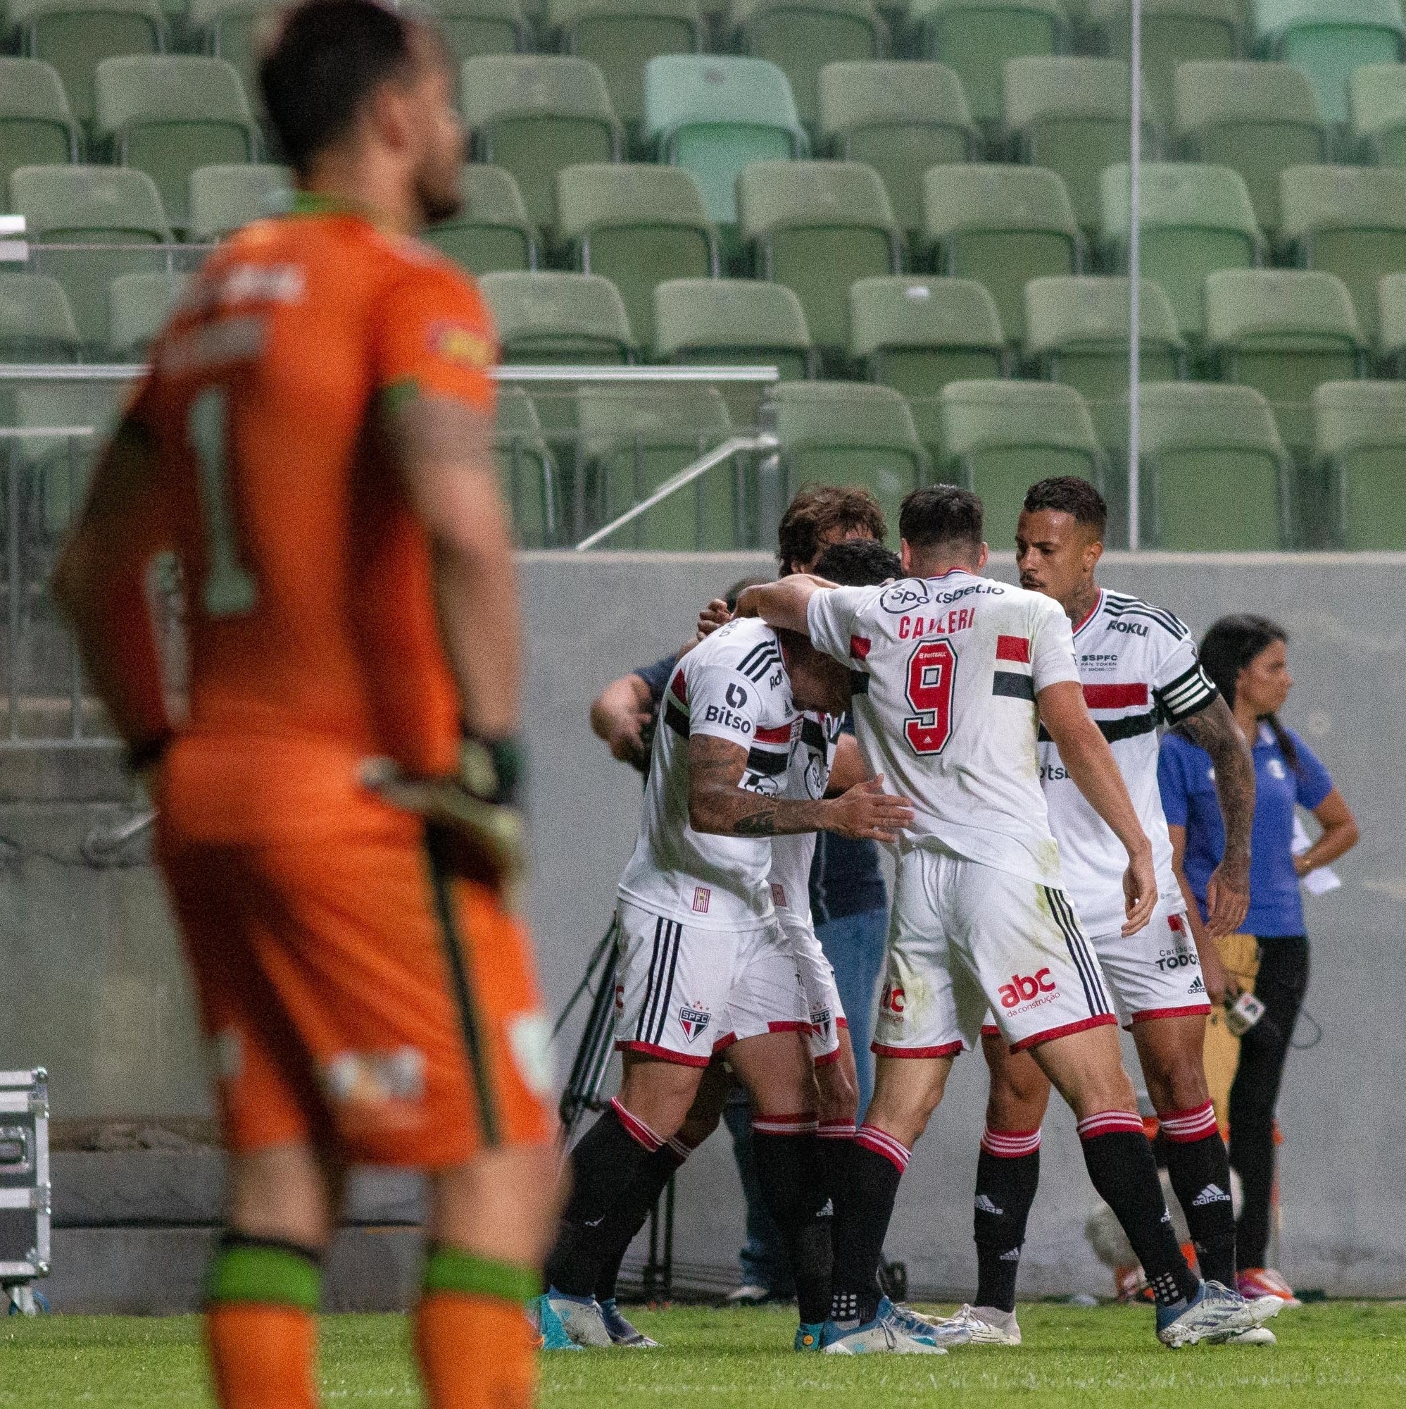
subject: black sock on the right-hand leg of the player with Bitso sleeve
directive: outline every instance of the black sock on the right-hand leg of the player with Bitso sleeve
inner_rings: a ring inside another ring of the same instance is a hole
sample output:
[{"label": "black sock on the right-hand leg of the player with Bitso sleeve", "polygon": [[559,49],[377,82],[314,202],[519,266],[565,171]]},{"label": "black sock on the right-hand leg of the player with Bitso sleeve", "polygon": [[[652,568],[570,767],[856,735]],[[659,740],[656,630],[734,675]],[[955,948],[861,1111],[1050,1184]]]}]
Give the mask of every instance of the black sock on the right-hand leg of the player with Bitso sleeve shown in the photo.
[{"label": "black sock on the right-hand leg of the player with Bitso sleeve", "polygon": [[752,1116],[757,1182],[780,1229],[800,1319],[810,1324],[823,1322],[830,1309],[831,1220],[820,1217],[826,1196],[817,1143],[813,1115]]}]

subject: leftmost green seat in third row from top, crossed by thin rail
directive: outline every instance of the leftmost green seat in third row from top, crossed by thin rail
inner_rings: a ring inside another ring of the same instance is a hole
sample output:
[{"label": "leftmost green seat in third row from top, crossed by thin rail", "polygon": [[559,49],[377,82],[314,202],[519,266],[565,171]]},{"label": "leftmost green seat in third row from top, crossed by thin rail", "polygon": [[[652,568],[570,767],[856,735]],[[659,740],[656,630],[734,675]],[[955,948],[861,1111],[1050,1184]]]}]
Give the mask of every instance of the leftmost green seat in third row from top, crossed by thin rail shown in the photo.
[{"label": "leftmost green seat in third row from top, crossed by thin rail", "polygon": [[120,166],[21,166],[10,209],[25,218],[31,268],[63,285],[79,337],[106,347],[113,279],[166,269],[158,247],[173,235],[152,179]]}]

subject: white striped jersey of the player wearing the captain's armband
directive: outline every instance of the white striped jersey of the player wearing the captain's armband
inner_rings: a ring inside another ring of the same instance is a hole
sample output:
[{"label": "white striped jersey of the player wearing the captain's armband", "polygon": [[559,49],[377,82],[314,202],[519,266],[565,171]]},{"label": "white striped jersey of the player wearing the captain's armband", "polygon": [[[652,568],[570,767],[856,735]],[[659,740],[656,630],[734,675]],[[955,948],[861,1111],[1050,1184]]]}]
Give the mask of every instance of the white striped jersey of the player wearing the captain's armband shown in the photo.
[{"label": "white striped jersey of the player wearing the captain's armband", "polygon": [[[1172,844],[1157,786],[1158,727],[1206,709],[1216,686],[1196,657],[1190,633],[1171,612],[1121,592],[1100,590],[1074,627],[1083,699],[1113,750],[1143,830],[1152,843],[1157,889],[1167,906],[1182,909],[1172,872]],[[1050,826],[1059,843],[1064,883],[1090,936],[1116,934],[1124,919],[1127,852],[1089,806],[1040,730],[1040,782]]]}]

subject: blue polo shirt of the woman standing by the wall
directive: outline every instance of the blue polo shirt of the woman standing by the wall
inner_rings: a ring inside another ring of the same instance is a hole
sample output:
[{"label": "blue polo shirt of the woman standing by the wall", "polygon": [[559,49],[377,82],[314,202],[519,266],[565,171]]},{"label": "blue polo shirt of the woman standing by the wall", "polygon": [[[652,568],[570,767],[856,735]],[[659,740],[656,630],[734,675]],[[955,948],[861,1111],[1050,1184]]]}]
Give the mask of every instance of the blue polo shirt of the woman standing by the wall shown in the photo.
[{"label": "blue polo shirt of the woman standing by the wall", "polygon": [[[1298,769],[1289,765],[1268,724],[1255,738],[1255,823],[1250,836],[1250,913],[1241,933],[1303,934],[1303,900],[1293,869],[1293,810],[1310,812],[1333,790],[1329,771],[1307,744],[1286,730],[1298,750]],[[1183,868],[1202,916],[1206,882],[1226,851],[1226,827],[1216,800],[1216,769],[1210,755],[1181,734],[1164,734],[1157,762],[1162,810],[1172,827],[1186,828]]]}]

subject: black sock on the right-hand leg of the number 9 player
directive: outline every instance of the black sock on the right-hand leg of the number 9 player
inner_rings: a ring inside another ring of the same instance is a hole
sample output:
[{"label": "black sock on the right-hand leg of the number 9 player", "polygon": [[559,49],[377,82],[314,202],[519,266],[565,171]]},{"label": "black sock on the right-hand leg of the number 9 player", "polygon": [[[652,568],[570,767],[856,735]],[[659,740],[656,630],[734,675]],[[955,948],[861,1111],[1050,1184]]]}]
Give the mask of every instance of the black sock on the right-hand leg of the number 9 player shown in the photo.
[{"label": "black sock on the right-hand leg of the number 9 player", "polygon": [[1158,1306],[1195,1296],[1200,1284],[1176,1241],[1143,1122],[1131,1110],[1100,1110],[1079,1122],[1079,1140],[1093,1188],[1123,1224]]}]

